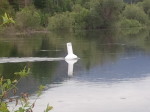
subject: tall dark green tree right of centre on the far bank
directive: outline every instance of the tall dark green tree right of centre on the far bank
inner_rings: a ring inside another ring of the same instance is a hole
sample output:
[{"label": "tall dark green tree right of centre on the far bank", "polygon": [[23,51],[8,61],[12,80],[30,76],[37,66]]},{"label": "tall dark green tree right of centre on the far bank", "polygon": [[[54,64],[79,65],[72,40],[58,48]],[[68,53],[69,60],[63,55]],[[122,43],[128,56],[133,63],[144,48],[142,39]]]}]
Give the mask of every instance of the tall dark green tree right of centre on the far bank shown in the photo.
[{"label": "tall dark green tree right of centre on the far bank", "polygon": [[110,27],[119,19],[124,6],[122,0],[95,0],[90,3],[90,29]]}]

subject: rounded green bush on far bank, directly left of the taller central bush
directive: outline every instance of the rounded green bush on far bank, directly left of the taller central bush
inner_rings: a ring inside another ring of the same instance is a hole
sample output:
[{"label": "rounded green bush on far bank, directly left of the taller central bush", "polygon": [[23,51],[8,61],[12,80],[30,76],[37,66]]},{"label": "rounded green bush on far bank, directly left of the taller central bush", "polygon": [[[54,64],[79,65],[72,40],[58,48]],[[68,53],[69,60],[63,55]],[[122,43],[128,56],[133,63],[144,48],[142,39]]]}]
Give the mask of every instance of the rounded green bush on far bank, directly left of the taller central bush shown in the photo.
[{"label": "rounded green bush on far bank, directly left of the taller central bush", "polygon": [[48,19],[49,30],[72,30],[73,19],[69,12],[56,14]]}]

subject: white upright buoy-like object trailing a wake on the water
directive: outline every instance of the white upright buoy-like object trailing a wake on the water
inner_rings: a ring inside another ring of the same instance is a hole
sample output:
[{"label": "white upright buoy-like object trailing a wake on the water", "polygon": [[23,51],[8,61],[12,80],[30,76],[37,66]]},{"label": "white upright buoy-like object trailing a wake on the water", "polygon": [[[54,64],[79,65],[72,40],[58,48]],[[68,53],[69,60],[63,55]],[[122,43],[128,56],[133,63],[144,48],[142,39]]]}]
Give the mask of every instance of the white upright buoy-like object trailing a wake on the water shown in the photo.
[{"label": "white upright buoy-like object trailing a wake on the water", "polygon": [[68,55],[65,57],[65,60],[79,59],[75,54],[73,54],[71,42],[67,43]]}]

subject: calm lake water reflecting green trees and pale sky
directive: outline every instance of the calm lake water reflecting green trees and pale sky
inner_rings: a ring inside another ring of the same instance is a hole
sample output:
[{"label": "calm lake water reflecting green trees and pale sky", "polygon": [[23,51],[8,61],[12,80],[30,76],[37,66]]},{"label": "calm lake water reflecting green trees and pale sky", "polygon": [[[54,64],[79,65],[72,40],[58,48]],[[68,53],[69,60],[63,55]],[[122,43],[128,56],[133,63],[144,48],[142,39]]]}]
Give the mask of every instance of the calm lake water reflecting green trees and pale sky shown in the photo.
[{"label": "calm lake water reflecting green trees and pale sky", "polygon": [[[67,42],[79,60],[63,60]],[[48,103],[52,112],[150,111],[149,31],[0,36],[0,74],[15,78],[13,73],[24,66],[31,75],[20,81],[18,92],[34,100],[38,86],[46,86],[35,112]]]}]

